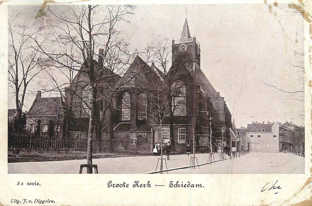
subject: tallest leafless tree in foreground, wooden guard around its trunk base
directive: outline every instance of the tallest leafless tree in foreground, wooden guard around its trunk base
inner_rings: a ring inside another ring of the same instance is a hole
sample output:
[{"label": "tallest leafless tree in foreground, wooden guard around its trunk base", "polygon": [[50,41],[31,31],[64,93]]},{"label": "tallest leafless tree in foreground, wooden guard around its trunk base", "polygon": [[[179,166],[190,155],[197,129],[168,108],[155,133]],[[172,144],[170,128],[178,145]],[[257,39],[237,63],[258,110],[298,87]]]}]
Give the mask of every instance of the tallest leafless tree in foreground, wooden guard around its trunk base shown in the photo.
[{"label": "tallest leafless tree in foreground, wooden guard around its trunk base", "polygon": [[[76,103],[85,103],[90,110],[88,165],[92,164],[92,139],[99,119],[100,86],[107,76],[117,76],[116,73],[105,74],[107,69],[124,64],[122,58],[113,54],[116,49],[119,54],[127,52],[120,44],[118,36],[122,31],[119,28],[128,23],[126,17],[133,9],[131,5],[49,6],[47,10],[52,19],[48,22],[49,36],[45,37],[47,46],[40,46],[38,39],[34,39],[37,50],[53,60],[56,67],[76,71],[87,78],[79,83],[90,88],[90,101],[76,94],[80,97]],[[100,57],[98,48],[104,48]],[[96,61],[96,57],[100,61]],[[87,173],[92,173],[92,168],[88,168]]]}]

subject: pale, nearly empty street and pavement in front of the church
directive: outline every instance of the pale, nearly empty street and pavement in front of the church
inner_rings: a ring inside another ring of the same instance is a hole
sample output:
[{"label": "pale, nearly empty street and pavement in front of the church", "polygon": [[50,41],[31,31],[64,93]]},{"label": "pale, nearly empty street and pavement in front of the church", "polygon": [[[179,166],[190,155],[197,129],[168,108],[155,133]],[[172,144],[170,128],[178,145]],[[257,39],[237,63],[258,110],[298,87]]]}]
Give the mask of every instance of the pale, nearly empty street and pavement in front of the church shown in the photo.
[{"label": "pale, nearly empty street and pavement in front of the church", "polygon": [[[219,160],[217,153],[214,156],[215,160]],[[186,154],[171,155],[170,160],[167,160],[168,169],[189,166],[190,157]],[[208,154],[196,154],[196,157],[199,164],[207,163]],[[138,174],[155,171],[157,161],[158,156],[132,156],[93,159],[93,164],[103,174]],[[85,163],[86,160],[8,163],[8,173],[76,174],[79,173],[80,164]],[[200,165],[199,169],[171,170],[169,173],[298,174],[304,173],[304,165],[304,157],[292,153],[250,152],[234,160]],[[83,173],[86,173],[86,169]]]}]

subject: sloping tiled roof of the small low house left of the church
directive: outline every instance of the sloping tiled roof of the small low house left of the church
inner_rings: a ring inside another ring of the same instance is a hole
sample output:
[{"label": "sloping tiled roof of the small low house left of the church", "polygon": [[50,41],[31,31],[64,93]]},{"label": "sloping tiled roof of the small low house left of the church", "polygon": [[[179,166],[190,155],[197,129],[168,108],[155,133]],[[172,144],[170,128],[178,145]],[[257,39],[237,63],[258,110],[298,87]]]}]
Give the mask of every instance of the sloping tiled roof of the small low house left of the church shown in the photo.
[{"label": "sloping tiled roof of the small low house left of the church", "polygon": [[27,116],[59,116],[63,114],[61,110],[61,97],[35,98]]}]

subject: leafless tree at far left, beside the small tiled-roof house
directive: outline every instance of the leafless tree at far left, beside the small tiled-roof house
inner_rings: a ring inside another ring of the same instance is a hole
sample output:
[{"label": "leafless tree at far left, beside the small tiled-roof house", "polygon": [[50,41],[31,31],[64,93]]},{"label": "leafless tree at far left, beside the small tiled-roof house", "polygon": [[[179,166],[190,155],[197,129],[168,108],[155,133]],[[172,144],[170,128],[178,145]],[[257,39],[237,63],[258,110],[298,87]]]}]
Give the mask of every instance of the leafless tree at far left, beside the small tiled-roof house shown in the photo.
[{"label": "leafless tree at far left, beside the small tiled-roof house", "polygon": [[[32,38],[40,34],[32,29],[32,23],[19,22],[17,14],[12,12],[8,18],[9,31],[9,57],[8,57],[8,82],[15,98],[16,119],[15,131],[22,130],[21,115],[24,107],[25,95],[29,92],[27,87],[43,69],[40,66],[41,58],[37,50],[31,47]],[[38,42],[40,45],[40,43]]]}]

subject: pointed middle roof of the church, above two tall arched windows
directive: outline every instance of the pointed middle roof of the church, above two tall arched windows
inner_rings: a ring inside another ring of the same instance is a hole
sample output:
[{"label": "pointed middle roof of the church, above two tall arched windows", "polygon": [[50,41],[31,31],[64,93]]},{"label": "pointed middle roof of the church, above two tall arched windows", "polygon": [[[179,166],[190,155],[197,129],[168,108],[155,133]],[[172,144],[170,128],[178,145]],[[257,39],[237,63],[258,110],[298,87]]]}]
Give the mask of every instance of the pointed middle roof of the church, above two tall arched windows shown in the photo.
[{"label": "pointed middle roof of the church, above two tall arched windows", "polygon": [[126,70],[121,87],[153,88],[163,83],[158,74],[137,55]]}]

